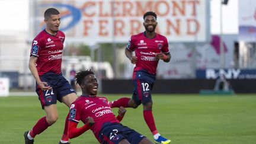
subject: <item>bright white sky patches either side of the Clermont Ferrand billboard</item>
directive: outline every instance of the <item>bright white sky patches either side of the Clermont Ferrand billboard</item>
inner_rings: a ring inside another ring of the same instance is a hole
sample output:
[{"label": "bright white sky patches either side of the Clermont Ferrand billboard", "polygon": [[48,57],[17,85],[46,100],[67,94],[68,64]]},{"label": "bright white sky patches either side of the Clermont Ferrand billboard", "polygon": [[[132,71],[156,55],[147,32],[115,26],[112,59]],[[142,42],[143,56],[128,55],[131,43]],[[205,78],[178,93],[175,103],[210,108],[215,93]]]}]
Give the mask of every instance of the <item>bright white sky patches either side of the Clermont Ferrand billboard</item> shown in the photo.
[{"label": "bright white sky patches either side of the Clermont Ferrand billboard", "polygon": [[[0,31],[28,31],[29,1],[0,0]],[[220,1],[211,1],[211,33],[220,33]],[[238,33],[238,0],[222,5],[222,30],[224,34]]]}]

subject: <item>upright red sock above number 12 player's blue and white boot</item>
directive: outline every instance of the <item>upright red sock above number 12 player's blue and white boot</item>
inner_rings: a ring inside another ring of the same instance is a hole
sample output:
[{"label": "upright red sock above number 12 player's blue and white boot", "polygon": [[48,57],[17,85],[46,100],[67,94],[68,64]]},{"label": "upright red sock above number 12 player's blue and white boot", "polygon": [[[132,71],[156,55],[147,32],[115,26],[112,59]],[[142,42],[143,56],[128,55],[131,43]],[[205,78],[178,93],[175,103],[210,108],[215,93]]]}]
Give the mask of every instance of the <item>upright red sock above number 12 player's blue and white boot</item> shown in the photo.
[{"label": "upright red sock above number 12 player's blue and white boot", "polygon": [[155,135],[158,133],[155,126],[155,120],[153,119],[152,110],[143,110],[143,116],[152,134]]}]

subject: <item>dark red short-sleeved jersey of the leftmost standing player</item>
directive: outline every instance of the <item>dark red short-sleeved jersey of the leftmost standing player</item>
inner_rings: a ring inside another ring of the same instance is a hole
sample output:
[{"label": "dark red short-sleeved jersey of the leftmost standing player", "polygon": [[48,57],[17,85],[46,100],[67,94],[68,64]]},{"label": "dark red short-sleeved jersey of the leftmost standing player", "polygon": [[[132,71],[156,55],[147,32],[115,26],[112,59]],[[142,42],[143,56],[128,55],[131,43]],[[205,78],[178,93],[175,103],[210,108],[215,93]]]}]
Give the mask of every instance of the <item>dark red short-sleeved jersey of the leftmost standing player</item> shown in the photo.
[{"label": "dark red short-sleeved jersey of the leftmost standing player", "polygon": [[39,75],[49,71],[61,73],[64,40],[65,34],[62,31],[57,31],[53,36],[43,30],[35,37],[30,56],[38,57],[36,68]]}]

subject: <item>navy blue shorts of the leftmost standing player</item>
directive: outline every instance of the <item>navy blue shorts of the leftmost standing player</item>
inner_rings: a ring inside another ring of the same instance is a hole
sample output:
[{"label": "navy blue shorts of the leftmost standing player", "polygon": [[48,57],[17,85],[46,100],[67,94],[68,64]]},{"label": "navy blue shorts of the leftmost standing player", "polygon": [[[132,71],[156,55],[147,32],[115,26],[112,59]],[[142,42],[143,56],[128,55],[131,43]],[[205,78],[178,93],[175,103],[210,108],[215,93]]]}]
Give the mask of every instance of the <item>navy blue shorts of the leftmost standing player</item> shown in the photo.
[{"label": "navy blue shorts of the leftmost standing player", "polygon": [[76,93],[62,73],[57,75],[53,72],[47,72],[40,76],[40,79],[52,87],[52,89],[43,91],[36,83],[36,92],[39,95],[42,108],[46,105],[56,104],[57,100],[62,102],[62,97],[73,92]]}]

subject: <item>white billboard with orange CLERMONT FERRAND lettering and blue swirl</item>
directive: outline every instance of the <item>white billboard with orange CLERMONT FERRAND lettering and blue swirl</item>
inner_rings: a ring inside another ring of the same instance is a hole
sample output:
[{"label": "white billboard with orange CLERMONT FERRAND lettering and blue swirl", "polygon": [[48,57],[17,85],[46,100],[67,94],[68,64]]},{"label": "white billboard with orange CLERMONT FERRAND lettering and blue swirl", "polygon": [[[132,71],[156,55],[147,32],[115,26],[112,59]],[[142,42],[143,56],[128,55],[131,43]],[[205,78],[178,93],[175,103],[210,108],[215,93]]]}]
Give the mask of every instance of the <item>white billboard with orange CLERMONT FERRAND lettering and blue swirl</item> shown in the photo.
[{"label": "white billboard with orange CLERMONT FERRAND lettering and blue swirl", "polygon": [[156,12],[156,31],[169,41],[204,42],[210,37],[209,0],[37,0],[30,4],[31,35],[43,30],[43,12],[53,7],[60,11],[60,30],[70,42],[127,42],[130,35],[144,31],[146,11]]}]

